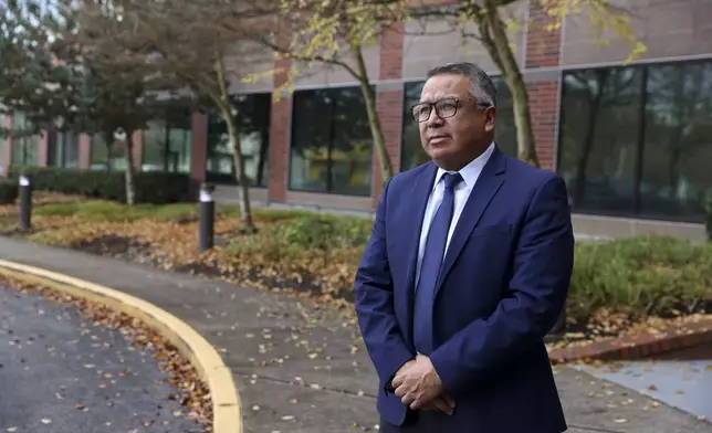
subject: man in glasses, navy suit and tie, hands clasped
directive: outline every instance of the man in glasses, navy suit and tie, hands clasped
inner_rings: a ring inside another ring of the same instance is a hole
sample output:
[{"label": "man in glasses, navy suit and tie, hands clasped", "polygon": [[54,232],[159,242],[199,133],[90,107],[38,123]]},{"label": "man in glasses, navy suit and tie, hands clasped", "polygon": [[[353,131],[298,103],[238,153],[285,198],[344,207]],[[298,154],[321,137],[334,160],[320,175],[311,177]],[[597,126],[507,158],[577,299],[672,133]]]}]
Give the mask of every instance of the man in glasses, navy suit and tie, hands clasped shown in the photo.
[{"label": "man in glasses, navy suit and tie, hands clasped", "polygon": [[431,70],[412,115],[431,162],[385,184],[355,284],[380,431],[566,431],[543,342],[574,261],[564,181],[499,150],[477,65]]}]

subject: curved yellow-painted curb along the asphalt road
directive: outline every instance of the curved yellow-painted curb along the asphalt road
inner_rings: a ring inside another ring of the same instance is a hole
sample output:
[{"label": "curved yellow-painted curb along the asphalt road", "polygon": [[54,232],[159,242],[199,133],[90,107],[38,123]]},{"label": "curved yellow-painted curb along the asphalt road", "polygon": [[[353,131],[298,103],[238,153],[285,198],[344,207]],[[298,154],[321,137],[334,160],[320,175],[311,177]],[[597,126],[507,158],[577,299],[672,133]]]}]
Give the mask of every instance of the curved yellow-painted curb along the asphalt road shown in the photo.
[{"label": "curved yellow-painted curb along the asphalt road", "polygon": [[170,341],[196,367],[212,397],[214,433],[242,433],[242,410],[232,373],[218,351],[193,328],[170,313],[123,292],[69,275],[0,260],[0,275],[44,285],[98,302],[135,317]]}]

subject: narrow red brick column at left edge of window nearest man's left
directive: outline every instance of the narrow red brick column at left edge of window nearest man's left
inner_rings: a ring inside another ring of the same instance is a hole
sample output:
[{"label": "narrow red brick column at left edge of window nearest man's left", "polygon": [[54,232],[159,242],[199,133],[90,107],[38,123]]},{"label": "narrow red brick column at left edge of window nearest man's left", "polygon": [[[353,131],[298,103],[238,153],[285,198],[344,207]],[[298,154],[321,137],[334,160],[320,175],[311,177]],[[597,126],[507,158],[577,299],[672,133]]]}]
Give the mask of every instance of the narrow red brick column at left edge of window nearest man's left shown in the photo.
[{"label": "narrow red brick column at left edge of window nearest man's left", "polygon": [[[291,38],[291,29],[280,22],[278,28],[278,43],[286,44]],[[282,86],[287,78],[286,71],[292,66],[289,59],[278,59],[274,62],[274,88]],[[292,96],[287,92],[280,95],[280,101],[272,103],[270,115],[270,147],[269,165],[270,178],[268,180],[268,201],[284,202],[286,200],[287,176],[290,172],[290,139],[292,129]]]}]

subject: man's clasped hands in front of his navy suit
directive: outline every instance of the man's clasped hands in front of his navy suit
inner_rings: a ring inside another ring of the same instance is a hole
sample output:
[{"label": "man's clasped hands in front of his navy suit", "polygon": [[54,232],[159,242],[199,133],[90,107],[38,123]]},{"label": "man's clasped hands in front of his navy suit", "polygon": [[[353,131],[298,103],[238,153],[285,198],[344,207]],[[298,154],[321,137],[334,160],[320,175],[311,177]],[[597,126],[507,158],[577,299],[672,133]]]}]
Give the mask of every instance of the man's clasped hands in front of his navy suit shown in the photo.
[{"label": "man's clasped hands in front of his navy suit", "polygon": [[443,390],[430,358],[425,355],[418,355],[410,368],[396,374],[392,386],[400,401],[412,410],[422,408]]}]

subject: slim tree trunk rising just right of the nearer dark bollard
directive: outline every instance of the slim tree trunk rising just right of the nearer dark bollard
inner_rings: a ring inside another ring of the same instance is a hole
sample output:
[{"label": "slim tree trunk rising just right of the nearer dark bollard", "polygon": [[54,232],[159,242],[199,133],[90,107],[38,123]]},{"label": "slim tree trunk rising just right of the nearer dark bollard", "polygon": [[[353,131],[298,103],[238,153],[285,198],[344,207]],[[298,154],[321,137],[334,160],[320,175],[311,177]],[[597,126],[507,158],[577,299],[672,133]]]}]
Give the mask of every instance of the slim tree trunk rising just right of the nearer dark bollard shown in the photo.
[{"label": "slim tree trunk rising just right of the nearer dark bollard", "polygon": [[222,62],[222,50],[219,36],[216,38],[216,73],[218,75],[218,87],[220,89],[218,106],[220,107],[220,115],[228,128],[230,136],[230,144],[232,145],[232,157],[234,158],[234,170],[238,179],[240,191],[240,214],[242,215],[242,229],[245,233],[254,233],[256,228],[252,220],[252,207],[250,205],[250,182],[244,172],[244,157],[242,155],[242,147],[240,146],[240,134],[238,126],[232,115],[232,104],[230,104],[230,95],[228,94],[228,86],[226,85],[224,64]]}]

